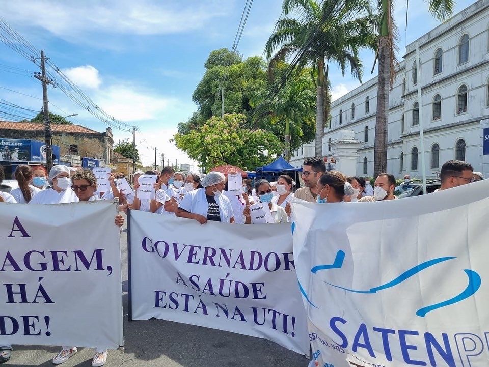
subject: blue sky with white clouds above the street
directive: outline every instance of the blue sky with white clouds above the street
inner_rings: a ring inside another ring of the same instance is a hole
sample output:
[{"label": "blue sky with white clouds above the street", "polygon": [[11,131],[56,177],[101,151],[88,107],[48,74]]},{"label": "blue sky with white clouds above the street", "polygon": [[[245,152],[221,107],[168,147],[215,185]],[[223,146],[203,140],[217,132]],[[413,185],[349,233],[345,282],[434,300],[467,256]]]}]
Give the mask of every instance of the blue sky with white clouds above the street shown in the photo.
[{"label": "blue sky with white clouds above the street", "polygon": [[[153,147],[157,148],[158,157],[165,155],[165,164],[167,159],[195,164],[169,139],[176,133],[177,124],[196,110],[192,93],[203,76],[209,52],[232,47],[244,3],[244,0],[22,0],[21,3],[0,0],[0,18],[35,48],[44,50],[50,61],[108,114],[127,125],[140,127],[136,144],[144,164],[154,161]],[[471,3],[457,2],[455,13]],[[281,6],[281,0],[253,2],[238,45],[244,58],[262,54]],[[406,1],[398,0],[395,19],[401,36],[401,56],[407,44],[439,24],[428,14],[424,2],[411,0],[406,32],[405,13]],[[364,51],[361,56],[366,81],[376,73],[375,70],[370,74],[374,55]],[[34,63],[0,43],[0,98],[39,111],[42,90],[40,82],[32,77],[32,72],[38,70]],[[342,77],[336,68],[330,70],[334,98],[359,86],[348,75]],[[63,116],[78,114],[71,118],[75,124],[97,131],[107,127],[59,88],[49,89],[49,100],[51,112]],[[19,112],[25,118],[35,115],[26,110]],[[0,120],[8,119],[0,115]],[[132,139],[132,133],[117,129],[113,133],[116,142]]]}]

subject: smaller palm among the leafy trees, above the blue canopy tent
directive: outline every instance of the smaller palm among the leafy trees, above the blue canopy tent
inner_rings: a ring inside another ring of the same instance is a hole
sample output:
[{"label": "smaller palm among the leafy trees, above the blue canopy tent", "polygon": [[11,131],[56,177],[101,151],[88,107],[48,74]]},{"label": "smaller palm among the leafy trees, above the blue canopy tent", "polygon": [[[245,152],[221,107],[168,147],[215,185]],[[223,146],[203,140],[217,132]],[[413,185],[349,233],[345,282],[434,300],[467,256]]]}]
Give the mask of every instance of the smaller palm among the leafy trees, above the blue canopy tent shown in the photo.
[{"label": "smaller palm among the leafy trees, above the blue canopy tent", "polygon": [[[291,139],[290,132],[294,136],[303,136],[306,127],[314,126],[314,109],[316,94],[313,91],[310,76],[302,72],[296,78],[289,80],[285,87],[267,103],[265,117],[267,124],[283,126],[285,153],[284,157],[290,160]],[[250,102],[252,107],[262,104],[268,96],[268,90],[257,94]]]}]

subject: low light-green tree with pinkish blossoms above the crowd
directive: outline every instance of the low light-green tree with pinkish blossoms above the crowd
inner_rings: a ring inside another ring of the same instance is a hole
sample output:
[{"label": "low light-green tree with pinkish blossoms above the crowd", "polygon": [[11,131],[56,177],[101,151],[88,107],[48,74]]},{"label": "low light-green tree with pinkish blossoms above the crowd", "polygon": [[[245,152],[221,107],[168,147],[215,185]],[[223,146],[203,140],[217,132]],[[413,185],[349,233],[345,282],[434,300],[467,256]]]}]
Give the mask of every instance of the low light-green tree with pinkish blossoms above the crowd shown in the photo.
[{"label": "low light-green tree with pinkish blossoms above the crowd", "polygon": [[283,145],[271,132],[243,129],[243,114],[212,116],[203,126],[187,134],[173,136],[176,146],[198,162],[206,171],[223,164],[254,170],[280,154]]}]

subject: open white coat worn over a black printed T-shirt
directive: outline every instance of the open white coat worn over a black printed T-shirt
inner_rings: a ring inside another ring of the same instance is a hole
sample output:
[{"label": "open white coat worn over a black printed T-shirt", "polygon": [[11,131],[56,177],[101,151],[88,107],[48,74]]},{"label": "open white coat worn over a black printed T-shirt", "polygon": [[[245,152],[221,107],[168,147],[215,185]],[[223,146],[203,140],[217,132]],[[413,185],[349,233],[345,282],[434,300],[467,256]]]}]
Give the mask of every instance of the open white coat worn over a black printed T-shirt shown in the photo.
[{"label": "open white coat worn over a black printed T-shirt", "polygon": [[[221,222],[229,223],[231,218],[234,217],[233,207],[231,202],[225,195],[214,196],[216,203],[219,205],[219,214],[221,215]],[[179,208],[186,210],[189,213],[200,214],[207,218],[207,210],[209,203],[205,196],[205,188],[200,188],[187,192],[183,197],[182,202],[178,206]]]}]

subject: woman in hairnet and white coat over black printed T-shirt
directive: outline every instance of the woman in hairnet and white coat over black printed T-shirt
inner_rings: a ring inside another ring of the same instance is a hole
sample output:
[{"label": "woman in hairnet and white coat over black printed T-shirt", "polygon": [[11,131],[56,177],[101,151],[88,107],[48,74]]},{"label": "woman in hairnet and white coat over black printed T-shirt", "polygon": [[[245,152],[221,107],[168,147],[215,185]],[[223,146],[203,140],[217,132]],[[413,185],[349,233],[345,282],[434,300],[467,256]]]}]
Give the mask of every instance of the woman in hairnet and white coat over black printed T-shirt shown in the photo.
[{"label": "woman in hairnet and white coat over black printed T-shirt", "polygon": [[187,192],[183,197],[176,216],[195,219],[200,224],[208,220],[234,223],[231,202],[223,195],[225,179],[221,172],[209,172],[202,179],[203,188]]}]

